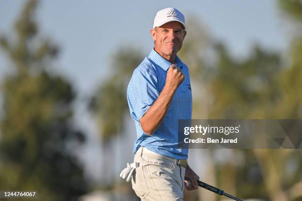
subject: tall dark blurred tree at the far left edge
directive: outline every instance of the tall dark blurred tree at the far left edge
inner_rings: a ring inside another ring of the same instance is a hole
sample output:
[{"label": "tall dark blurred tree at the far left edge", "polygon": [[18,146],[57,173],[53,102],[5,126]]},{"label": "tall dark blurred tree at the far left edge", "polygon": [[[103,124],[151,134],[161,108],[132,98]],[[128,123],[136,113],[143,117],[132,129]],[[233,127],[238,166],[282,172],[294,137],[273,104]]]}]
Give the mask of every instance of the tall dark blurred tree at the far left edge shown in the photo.
[{"label": "tall dark blurred tree at the far left edge", "polygon": [[58,51],[37,39],[37,3],[25,5],[15,38],[0,37],[14,71],[1,85],[0,189],[36,190],[45,201],[77,200],[87,185],[71,152],[84,141],[72,128],[76,94],[67,80],[46,70]]}]

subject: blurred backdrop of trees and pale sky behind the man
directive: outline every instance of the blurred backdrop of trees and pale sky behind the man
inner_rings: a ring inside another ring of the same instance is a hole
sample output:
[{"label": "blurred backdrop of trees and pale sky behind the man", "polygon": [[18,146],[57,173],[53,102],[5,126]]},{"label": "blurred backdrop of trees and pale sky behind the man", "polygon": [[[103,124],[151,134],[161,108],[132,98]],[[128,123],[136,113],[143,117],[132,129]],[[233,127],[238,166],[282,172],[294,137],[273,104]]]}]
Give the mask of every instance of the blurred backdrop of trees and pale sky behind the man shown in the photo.
[{"label": "blurred backdrop of trees and pale sky behind the man", "polygon": [[[302,118],[301,0],[0,0],[0,190],[138,200],[119,178],[136,139],[126,87],[165,7],[188,24],[178,55],[192,118]],[[302,201],[299,149],[191,149],[189,164],[244,200]],[[227,199],[198,189],[185,200]]]}]

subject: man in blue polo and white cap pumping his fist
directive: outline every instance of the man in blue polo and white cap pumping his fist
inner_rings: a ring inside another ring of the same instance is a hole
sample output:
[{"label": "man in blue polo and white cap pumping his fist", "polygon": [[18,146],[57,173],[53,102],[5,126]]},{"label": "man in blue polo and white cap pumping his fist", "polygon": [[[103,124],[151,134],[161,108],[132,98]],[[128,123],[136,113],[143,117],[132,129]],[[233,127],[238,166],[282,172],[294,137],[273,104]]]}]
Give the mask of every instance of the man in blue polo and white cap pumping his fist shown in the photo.
[{"label": "man in blue polo and white cap pumping his fist", "polygon": [[184,188],[197,189],[199,179],[187,164],[188,149],[178,148],[178,120],[191,119],[192,110],[189,69],[177,56],[187,34],[185,17],[162,9],[150,32],[154,48],[127,89],[137,131],[132,188],[142,201],[183,201]]}]

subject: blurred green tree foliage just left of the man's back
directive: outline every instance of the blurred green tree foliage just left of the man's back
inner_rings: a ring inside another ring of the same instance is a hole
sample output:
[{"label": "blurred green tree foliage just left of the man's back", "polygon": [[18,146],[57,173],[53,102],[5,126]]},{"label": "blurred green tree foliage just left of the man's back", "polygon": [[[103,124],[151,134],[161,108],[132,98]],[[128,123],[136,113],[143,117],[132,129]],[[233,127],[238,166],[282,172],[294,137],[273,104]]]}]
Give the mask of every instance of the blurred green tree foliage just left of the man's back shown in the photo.
[{"label": "blurred green tree foliage just left of the man's back", "polygon": [[124,113],[129,110],[126,89],[133,70],[142,59],[138,49],[120,48],[113,54],[113,74],[102,83],[90,101],[90,110],[97,117],[105,144],[122,130]]}]

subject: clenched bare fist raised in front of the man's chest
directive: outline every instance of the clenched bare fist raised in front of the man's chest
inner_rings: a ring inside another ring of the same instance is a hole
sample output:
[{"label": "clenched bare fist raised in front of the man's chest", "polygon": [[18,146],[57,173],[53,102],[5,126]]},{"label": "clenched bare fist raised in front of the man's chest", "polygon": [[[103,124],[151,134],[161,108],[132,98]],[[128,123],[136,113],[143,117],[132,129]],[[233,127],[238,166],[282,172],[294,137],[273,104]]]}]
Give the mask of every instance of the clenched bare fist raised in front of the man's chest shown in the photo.
[{"label": "clenched bare fist raised in front of the man's chest", "polygon": [[175,64],[172,64],[167,71],[165,86],[172,90],[176,90],[184,79],[185,75],[182,73],[179,67],[177,67]]}]

